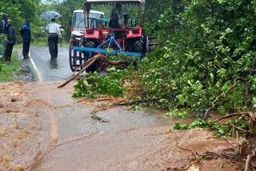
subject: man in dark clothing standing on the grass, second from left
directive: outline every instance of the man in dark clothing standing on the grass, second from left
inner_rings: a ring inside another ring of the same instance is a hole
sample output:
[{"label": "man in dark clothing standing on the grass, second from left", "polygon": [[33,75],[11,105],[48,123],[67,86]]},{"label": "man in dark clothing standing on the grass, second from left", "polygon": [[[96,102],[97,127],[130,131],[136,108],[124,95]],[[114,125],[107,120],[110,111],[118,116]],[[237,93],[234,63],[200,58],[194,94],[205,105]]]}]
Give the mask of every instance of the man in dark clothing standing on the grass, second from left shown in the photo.
[{"label": "man in dark clothing standing on the grass, second from left", "polygon": [[11,54],[14,49],[14,44],[16,43],[17,37],[15,34],[14,27],[11,26],[11,20],[7,20],[8,26],[6,29],[6,34],[7,34],[7,41],[6,41],[6,51],[5,51],[5,59],[6,59],[6,64],[10,64],[10,58]]}]

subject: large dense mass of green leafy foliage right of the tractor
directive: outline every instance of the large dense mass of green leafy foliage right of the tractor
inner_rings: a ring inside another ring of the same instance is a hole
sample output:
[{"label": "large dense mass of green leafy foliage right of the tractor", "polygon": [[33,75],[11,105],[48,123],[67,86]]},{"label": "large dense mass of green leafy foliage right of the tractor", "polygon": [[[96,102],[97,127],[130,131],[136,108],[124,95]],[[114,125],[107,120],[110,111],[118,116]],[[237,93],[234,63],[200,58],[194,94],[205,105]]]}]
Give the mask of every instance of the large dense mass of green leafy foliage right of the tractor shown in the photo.
[{"label": "large dense mass of green leafy foliage right of the tractor", "polygon": [[126,77],[146,92],[136,99],[183,117],[186,111],[205,112],[241,78],[215,109],[223,114],[253,109],[256,1],[159,1],[155,9],[150,1],[146,4],[151,12],[145,30],[162,40],[154,53],[138,62],[138,70],[129,72],[133,77]]}]

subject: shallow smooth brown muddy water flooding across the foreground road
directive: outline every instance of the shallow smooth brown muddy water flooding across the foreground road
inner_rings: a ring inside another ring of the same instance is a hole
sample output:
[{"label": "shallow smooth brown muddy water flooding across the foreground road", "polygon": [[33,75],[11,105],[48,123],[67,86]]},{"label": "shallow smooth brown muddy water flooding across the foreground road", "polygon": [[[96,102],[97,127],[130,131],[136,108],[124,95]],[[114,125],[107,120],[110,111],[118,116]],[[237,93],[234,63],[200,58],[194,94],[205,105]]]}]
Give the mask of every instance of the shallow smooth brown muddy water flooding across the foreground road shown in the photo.
[{"label": "shallow smooth brown muddy water flooding across the foreground road", "polygon": [[[193,155],[179,149],[177,142],[197,153],[218,153],[229,147],[226,141],[213,139],[211,133],[202,129],[172,130],[175,122],[187,121],[166,119],[162,113],[153,111],[114,107],[95,113],[106,122],[98,121],[94,111],[106,105],[105,102],[74,103],[80,99],[70,97],[72,83],[63,89],[57,89],[58,84],[17,85],[30,99],[24,105],[31,113],[27,115],[30,116],[27,121],[18,118],[21,120],[19,129],[30,131],[24,137],[26,141],[20,141],[21,146],[10,147],[5,152],[11,155],[18,151],[16,157],[10,158],[13,167],[20,165],[27,170],[184,169]],[[34,125],[36,129],[27,125]],[[2,125],[7,126],[10,125]],[[224,168],[219,169],[222,163]],[[234,170],[232,165],[221,159],[204,160],[200,170]]]}]

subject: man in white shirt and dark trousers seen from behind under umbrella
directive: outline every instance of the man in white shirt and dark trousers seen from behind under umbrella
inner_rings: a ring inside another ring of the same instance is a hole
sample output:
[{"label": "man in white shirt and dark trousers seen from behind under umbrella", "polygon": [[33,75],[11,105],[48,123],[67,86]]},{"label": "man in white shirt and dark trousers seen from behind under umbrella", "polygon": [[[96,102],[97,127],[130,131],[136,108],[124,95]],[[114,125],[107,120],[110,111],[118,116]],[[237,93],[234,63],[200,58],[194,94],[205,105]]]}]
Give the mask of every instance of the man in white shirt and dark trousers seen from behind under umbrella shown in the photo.
[{"label": "man in white shirt and dark trousers seen from behind under umbrella", "polygon": [[46,26],[46,30],[49,33],[48,45],[51,58],[58,58],[58,37],[62,38],[61,31],[58,24],[55,22],[55,18],[51,19],[51,22]]}]

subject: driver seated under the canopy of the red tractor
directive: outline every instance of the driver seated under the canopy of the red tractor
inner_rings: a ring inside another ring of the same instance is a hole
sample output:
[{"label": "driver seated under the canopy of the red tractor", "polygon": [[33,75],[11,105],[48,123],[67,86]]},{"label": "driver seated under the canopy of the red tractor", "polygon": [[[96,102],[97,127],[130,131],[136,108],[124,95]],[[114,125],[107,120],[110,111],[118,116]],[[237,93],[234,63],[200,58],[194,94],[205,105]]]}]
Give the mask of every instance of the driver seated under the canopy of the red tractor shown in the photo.
[{"label": "driver seated under the canopy of the red tractor", "polygon": [[116,3],[115,8],[112,10],[110,14],[110,27],[111,28],[122,28],[123,27],[123,19],[122,19],[122,5],[121,3]]}]

